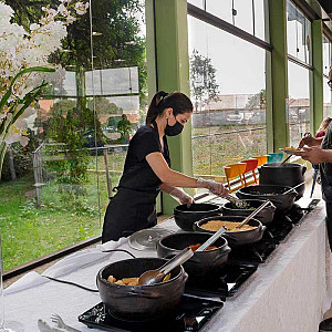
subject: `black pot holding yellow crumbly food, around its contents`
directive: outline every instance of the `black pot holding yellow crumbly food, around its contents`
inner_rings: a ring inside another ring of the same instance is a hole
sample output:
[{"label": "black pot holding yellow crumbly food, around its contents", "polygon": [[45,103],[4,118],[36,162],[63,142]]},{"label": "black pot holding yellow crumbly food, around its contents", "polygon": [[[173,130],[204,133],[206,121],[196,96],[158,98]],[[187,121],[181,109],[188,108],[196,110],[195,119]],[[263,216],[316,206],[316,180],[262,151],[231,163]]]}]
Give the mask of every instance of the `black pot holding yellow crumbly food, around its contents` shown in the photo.
[{"label": "black pot holding yellow crumbly food, around its contents", "polygon": [[[207,230],[201,228],[201,225],[207,224],[210,220],[225,220],[225,221],[234,221],[234,222],[241,222],[243,221],[245,217],[235,217],[235,216],[215,216],[201,219],[194,224],[194,229],[198,231],[204,231],[208,234],[215,234],[215,231]],[[256,226],[253,229],[249,230],[241,230],[237,232],[225,232],[222,237],[225,237],[229,243],[230,248],[255,243],[261,240],[263,232],[266,230],[266,226],[261,225],[261,222],[257,219],[251,219],[248,221],[248,225]]]}]

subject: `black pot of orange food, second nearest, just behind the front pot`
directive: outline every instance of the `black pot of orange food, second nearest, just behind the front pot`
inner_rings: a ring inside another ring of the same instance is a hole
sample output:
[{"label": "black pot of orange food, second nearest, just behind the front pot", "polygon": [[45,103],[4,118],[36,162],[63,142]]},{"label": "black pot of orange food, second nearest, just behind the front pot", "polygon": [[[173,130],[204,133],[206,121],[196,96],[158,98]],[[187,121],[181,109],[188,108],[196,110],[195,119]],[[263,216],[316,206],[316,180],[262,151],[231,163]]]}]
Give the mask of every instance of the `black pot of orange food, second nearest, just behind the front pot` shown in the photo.
[{"label": "black pot of orange food, second nearest, just behind the front pot", "polygon": [[[186,247],[201,245],[210,237],[209,234],[195,231],[166,236],[157,242],[158,257],[172,258]],[[227,240],[220,237],[212,246],[217,249],[195,251],[194,256],[184,263],[184,269],[190,280],[215,273],[227,261],[230,251]]]}]

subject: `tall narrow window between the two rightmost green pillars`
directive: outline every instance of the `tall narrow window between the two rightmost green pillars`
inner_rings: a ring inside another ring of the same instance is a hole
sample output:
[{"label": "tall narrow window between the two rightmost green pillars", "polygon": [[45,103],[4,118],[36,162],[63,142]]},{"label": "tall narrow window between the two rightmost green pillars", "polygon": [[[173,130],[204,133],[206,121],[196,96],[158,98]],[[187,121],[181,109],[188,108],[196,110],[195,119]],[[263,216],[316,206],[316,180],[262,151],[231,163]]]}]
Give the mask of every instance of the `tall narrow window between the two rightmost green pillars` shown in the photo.
[{"label": "tall narrow window between the two rightmost green pillars", "polygon": [[287,123],[290,145],[298,146],[310,132],[311,22],[291,2],[287,2],[288,103]]}]

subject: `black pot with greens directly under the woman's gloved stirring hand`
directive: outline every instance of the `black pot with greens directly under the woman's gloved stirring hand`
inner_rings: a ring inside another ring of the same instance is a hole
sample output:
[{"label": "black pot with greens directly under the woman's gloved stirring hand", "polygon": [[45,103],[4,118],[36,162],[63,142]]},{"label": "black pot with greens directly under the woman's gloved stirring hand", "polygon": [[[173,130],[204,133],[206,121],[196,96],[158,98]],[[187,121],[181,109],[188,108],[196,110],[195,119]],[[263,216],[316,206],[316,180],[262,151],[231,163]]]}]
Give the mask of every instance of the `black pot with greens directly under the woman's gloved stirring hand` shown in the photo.
[{"label": "black pot with greens directly under the woman's gloved stirring hand", "polygon": [[[260,199],[243,199],[245,203],[249,204],[252,208],[238,208],[235,204],[228,201],[222,206],[222,216],[241,216],[248,217],[256,208],[264,203]],[[264,207],[258,215],[255,216],[255,219],[259,220],[262,225],[269,225],[274,217],[276,206],[271,203]]]}]

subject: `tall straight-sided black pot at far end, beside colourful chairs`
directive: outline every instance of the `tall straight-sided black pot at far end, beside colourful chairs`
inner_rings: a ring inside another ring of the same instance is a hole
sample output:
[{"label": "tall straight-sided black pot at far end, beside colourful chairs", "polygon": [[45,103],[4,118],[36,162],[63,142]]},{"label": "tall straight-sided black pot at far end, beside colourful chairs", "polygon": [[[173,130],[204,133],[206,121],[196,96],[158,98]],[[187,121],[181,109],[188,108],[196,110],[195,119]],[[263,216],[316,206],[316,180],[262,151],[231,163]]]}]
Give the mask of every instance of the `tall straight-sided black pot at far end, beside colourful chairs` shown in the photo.
[{"label": "tall straight-sided black pot at far end, beside colourful chairs", "polygon": [[[258,168],[259,184],[294,187],[295,185],[304,181],[305,170],[307,167],[301,164],[264,164]],[[298,191],[295,200],[303,196],[304,187],[305,186],[303,184],[295,189]]]}]

